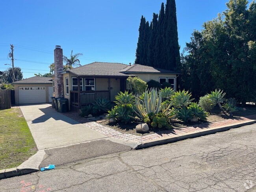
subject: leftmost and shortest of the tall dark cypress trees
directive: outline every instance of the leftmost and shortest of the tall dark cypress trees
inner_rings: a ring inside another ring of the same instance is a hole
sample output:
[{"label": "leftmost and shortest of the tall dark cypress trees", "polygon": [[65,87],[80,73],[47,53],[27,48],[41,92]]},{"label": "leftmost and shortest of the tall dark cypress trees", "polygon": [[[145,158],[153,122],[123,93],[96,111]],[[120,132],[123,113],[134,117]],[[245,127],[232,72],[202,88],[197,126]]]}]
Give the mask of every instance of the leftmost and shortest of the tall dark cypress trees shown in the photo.
[{"label": "leftmost and shortest of the tall dark cypress trees", "polygon": [[146,19],[142,15],[141,16],[141,23],[139,25],[139,39],[138,39],[137,49],[136,49],[135,63],[137,63],[137,64],[142,64],[143,63],[145,26],[146,26]]}]

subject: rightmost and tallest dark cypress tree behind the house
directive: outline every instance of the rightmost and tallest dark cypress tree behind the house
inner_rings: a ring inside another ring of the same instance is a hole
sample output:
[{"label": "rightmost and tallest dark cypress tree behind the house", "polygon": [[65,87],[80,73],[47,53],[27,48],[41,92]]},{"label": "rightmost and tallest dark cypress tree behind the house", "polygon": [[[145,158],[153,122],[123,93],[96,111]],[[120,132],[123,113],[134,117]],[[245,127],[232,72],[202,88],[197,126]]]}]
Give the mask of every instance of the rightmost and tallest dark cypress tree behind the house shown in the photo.
[{"label": "rightmost and tallest dark cypress tree behind the house", "polygon": [[161,68],[174,70],[180,63],[180,46],[178,44],[178,27],[176,17],[176,3],[175,0],[167,0],[165,7],[165,50],[164,62]]}]

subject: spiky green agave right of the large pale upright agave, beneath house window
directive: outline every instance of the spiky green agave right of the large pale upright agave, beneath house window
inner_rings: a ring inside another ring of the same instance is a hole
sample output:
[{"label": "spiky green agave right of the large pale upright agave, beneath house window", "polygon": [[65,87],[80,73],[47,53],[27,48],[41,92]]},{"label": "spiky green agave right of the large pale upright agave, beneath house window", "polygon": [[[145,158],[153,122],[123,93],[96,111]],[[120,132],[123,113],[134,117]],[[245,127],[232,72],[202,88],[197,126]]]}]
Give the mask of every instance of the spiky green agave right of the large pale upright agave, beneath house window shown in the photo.
[{"label": "spiky green agave right of the large pale upright agave, beneath house window", "polygon": [[191,93],[183,90],[174,92],[171,96],[171,101],[173,102],[174,107],[187,107],[194,99],[191,98]]}]

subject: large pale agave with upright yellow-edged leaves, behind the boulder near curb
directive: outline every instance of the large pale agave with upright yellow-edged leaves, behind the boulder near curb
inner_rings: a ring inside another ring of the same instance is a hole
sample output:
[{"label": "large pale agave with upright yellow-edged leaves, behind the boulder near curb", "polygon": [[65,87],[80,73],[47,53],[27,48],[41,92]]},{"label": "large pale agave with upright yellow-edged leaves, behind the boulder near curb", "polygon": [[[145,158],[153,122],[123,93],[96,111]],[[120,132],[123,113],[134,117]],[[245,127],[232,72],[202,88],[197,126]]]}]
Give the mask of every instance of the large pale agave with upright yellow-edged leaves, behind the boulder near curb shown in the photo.
[{"label": "large pale agave with upright yellow-edged leaves, behind the boulder near curb", "polygon": [[153,113],[157,114],[160,111],[164,114],[170,109],[171,104],[169,106],[161,107],[161,92],[158,93],[157,89],[150,89],[149,91],[145,91],[144,101],[138,97],[135,97],[135,104],[137,107],[137,111],[134,112],[141,119],[144,119],[147,114]]}]

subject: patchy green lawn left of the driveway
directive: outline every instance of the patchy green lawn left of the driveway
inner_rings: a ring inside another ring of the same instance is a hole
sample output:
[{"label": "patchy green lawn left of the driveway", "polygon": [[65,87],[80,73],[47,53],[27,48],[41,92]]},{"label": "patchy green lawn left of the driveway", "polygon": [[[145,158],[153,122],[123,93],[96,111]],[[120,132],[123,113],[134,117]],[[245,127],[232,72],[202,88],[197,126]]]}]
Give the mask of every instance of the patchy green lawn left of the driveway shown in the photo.
[{"label": "patchy green lawn left of the driveway", "polygon": [[0,110],[0,170],[19,166],[37,147],[19,108]]}]

